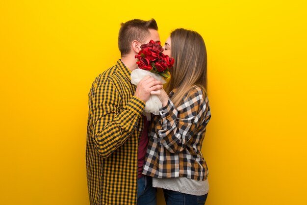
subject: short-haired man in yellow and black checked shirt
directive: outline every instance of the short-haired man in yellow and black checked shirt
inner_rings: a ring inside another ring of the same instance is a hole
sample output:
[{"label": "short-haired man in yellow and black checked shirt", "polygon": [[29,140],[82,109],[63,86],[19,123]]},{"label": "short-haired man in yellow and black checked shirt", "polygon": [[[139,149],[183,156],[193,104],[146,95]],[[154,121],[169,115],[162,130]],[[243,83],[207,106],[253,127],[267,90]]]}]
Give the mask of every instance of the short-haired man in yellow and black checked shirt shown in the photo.
[{"label": "short-haired man in yellow and black checked shirt", "polygon": [[99,75],[90,89],[86,168],[91,205],[155,204],[151,181],[139,170],[148,143],[142,112],[150,92],[162,85],[153,77],[144,77],[135,86],[130,73],[137,68],[134,56],[140,46],[160,40],[157,30],[154,19],[122,24],[118,36],[121,59]]}]

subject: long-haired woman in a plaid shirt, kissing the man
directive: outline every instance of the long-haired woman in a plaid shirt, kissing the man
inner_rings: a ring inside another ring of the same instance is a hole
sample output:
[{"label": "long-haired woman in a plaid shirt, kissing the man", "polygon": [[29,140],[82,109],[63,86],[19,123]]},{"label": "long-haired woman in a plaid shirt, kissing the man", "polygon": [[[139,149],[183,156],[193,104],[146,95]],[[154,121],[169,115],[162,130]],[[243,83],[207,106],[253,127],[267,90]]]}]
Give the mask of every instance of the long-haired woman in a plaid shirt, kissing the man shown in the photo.
[{"label": "long-haired woman in a plaid shirt, kissing the man", "polygon": [[166,92],[151,92],[162,108],[151,123],[143,174],[153,177],[153,187],[163,188],[167,205],[204,205],[209,184],[201,148],[211,117],[205,42],[199,33],[180,28],[163,48],[175,64]]}]

